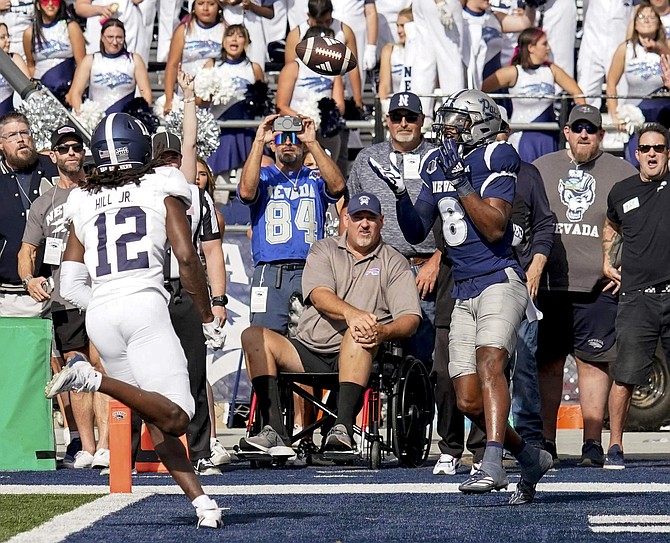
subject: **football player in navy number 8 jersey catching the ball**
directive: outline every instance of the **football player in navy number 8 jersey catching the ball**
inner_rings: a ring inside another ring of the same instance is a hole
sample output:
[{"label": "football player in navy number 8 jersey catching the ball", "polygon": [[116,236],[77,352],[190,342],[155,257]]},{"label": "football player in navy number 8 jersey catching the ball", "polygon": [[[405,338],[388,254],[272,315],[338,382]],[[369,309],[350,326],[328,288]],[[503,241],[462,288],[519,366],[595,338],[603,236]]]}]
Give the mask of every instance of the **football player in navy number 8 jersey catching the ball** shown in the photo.
[{"label": "football player in navy number 8 jersey catching the ball", "polygon": [[453,262],[456,300],[449,333],[449,374],[459,409],[481,428],[487,444],[481,467],[462,483],[465,493],[507,488],[503,446],[521,466],[510,503],[528,503],[552,466],[551,455],[526,445],[507,424],[510,397],[504,370],[528,304],[525,274],[512,252],[512,202],[519,156],[505,142],[498,106],[478,90],[451,95],[439,108],[433,131],[438,148],[422,160],[424,186],[412,204],[391,165],[370,166],[395,193],[398,221],[409,243],[421,242],[442,219]]}]

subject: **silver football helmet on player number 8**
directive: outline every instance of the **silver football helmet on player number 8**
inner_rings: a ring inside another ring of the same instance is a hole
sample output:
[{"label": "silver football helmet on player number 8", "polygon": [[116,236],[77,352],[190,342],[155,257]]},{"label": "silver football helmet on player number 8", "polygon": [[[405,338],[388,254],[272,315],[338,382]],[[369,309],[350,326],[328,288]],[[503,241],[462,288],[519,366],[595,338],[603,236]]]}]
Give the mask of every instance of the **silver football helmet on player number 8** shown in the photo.
[{"label": "silver football helmet on player number 8", "polygon": [[[453,132],[456,134],[453,134]],[[462,90],[449,96],[435,114],[433,132],[439,142],[453,137],[468,147],[488,143],[503,131],[498,105],[480,90]]]}]

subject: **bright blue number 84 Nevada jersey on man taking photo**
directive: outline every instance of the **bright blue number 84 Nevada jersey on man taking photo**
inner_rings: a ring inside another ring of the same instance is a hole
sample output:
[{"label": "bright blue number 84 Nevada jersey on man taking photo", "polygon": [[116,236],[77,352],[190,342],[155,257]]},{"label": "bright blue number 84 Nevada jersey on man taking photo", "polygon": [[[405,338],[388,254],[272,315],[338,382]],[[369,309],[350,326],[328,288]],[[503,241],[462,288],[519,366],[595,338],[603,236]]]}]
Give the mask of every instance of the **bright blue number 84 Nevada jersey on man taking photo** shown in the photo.
[{"label": "bright blue number 84 Nevada jersey on man taking photo", "polygon": [[[239,196],[238,196],[239,197]],[[261,168],[256,198],[245,202],[251,214],[254,266],[260,262],[305,260],[323,238],[326,209],[337,198],[326,192],[318,169],[283,173],[276,165]]]}]

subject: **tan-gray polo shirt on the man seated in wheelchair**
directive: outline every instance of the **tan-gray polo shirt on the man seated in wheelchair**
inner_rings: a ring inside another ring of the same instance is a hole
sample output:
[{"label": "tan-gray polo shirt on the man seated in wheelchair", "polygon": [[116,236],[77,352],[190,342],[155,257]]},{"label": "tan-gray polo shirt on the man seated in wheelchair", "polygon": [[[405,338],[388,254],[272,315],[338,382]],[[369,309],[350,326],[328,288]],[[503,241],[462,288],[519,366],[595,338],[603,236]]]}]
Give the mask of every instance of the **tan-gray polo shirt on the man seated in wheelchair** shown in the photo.
[{"label": "tan-gray polo shirt on the man seated in wheelchair", "polygon": [[[327,287],[345,302],[377,315],[381,323],[401,315],[421,317],[419,293],[407,260],[381,241],[365,258],[347,249],[346,233],[315,242],[302,276],[305,300],[317,287]],[[331,320],[308,305],[298,322],[297,339],[318,353],[339,351],[347,330],[345,321]]]}]

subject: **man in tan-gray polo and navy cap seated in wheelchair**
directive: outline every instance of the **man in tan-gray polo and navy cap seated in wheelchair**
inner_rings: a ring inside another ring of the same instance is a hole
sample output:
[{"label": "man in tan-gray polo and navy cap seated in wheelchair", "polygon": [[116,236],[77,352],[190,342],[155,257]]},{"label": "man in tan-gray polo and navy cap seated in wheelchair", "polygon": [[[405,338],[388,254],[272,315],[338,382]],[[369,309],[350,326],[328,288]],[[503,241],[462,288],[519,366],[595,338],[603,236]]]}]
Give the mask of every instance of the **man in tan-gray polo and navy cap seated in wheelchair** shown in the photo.
[{"label": "man in tan-gray polo and navy cap seated in wheelchair", "polygon": [[280,412],[278,371],[339,373],[337,420],[324,451],[353,451],[353,426],[372,361],[381,343],[404,339],[421,318],[407,259],[381,239],[377,197],[361,192],[349,202],[345,232],[315,242],[302,278],[306,307],[296,338],[252,326],[242,333],[247,371],[258,401],[261,432],[242,438],[244,451],[292,454]]}]

